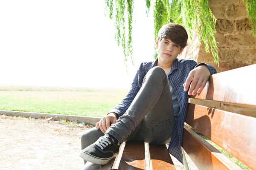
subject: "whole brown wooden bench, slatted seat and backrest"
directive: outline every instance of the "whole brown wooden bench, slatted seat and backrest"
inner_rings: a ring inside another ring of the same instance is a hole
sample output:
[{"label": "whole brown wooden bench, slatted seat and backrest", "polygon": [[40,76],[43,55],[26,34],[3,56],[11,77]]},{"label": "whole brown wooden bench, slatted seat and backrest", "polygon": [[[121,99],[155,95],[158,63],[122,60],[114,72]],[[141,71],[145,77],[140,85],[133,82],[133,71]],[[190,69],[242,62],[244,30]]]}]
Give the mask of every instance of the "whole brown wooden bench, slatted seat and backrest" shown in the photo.
[{"label": "whole brown wooden bench, slatted seat and backrest", "polygon": [[[210,76],[201,94],[189,98],[183,149],[199,170],[241,168],[212,147],[198,131],[251,169],[256,169],[256,65]],[[166,145],[123,143],[106,165],[87,162],[83,170],[175,170]]]}]

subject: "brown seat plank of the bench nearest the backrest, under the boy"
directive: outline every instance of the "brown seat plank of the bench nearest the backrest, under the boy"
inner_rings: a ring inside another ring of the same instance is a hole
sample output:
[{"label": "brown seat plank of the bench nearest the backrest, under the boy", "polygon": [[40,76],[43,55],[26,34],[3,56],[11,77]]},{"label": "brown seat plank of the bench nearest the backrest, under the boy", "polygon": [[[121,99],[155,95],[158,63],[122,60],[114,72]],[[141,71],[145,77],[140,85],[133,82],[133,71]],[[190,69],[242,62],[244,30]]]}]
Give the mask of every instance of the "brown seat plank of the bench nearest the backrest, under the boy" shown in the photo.
[{"label": "brown seat plank of the bench nearest the backrest, under the boy", "polygon": [[151,170],[176,170],[165,144],[149,144]]}]

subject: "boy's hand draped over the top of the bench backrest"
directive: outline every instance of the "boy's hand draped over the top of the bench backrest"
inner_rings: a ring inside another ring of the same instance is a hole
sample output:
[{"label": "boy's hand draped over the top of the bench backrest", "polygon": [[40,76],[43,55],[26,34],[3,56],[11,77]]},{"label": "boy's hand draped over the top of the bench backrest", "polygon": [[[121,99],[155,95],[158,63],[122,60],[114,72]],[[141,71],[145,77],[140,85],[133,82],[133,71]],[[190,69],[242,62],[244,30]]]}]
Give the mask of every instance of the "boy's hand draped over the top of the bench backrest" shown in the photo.
[{"label": "boy's hand draped over the top of the bench backrest", "polygon": [[189,72],[189,76],[186,79],[186,82],[183,84],[184,91],[187,91],[189,88],[189,84],[191,82],[189,88],[189,96],[195,95],[196,93],[201,93],[209,80],[210,71],[206,65],[199,65],[197,68],[194,68]]}]

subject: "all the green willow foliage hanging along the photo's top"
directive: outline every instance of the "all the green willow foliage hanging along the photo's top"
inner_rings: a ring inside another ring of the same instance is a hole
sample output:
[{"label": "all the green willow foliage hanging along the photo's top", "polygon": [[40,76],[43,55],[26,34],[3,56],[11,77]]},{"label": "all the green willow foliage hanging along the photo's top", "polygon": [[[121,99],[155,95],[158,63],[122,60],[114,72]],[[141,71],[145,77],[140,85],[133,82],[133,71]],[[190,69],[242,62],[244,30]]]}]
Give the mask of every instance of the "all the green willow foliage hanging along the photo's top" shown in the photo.
[{"label": "all the green willow foliage hanging along the photo's top", "polygon": [[[244,1],[244,0],[243,0]],[[154,36],[157,37],[159,29],[166,23],[180,23],[188,31],[192,40],[192,30],[195,31],[199,42],[204,42],[205,51],[211,51],[217,64],[218,47],[215,40],[216,18],[209,8],[208,0],[145,0],[146,14],[148,16],[151,5],[154,16]],[[246,9],[250,24],[253,27],[253,35],[256,36],[256,0],[246,0]],[[114,20],[118,45],[122,39],[125,62],[128,58],[133,62],[132,57],[132,21],[133,21],[133,0],[105,0],[105,14]],[[125,14],[127,11],[127,14]],[[115,14],[115,15],[113,15]],[[125,18],[128,18],[128,23]],[[128,24],[128,40],[125,39],[125,24]]]}]

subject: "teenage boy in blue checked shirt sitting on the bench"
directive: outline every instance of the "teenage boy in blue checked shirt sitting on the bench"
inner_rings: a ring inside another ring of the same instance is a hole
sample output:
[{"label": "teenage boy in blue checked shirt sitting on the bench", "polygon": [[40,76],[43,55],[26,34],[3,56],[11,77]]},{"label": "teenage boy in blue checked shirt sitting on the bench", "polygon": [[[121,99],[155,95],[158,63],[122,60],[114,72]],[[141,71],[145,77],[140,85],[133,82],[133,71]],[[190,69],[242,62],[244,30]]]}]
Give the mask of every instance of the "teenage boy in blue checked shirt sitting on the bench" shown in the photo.
[{"label": "teenage boy in blue checked shirt sitting on the bench", "polygon": [[170,142],[169,153],[183,163],[181,145],[188,98],[201,93],[209,76],[216,73],[205,63],[177,59],[187,39],[185,28],[179,24],[160,29],[158,58],[140,65],[125,99],[81,136],[81,158],[107,164],[118,155],[124,141]]}]

